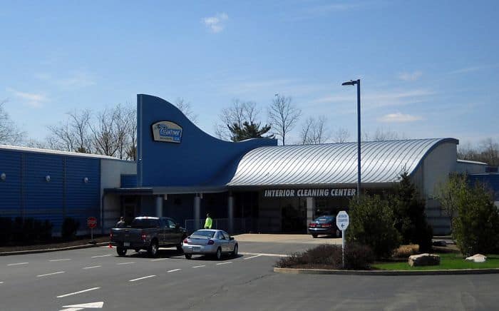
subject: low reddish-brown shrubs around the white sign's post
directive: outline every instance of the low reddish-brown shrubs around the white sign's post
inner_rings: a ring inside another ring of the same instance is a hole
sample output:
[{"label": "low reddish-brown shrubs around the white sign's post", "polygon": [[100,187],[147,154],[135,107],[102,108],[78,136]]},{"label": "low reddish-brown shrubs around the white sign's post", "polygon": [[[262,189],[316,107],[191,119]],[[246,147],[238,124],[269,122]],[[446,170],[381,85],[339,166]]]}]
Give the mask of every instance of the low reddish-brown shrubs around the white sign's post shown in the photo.
[{"label": "low reddish-brown shrubs around the white sign's post", "polygon": [[[276,267],[342,268],[341,245],[319,245],[304,253],[294,253],[276,262]],[[351,243],[345,248],[346,269],[369,269],[374,253],[366,245]]]}]

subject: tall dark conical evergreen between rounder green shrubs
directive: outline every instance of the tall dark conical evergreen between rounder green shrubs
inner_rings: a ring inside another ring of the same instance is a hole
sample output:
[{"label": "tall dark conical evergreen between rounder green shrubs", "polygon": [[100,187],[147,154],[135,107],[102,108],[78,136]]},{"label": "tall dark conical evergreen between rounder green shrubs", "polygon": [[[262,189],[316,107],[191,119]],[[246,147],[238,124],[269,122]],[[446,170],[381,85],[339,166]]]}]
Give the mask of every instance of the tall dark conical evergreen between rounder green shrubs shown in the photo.
[{"label": "tall dark conical evergreen between rounder green shrubs", "polygon": [[389,202],[402,243],[416,243],[423,252],[431,250],[433,229],[426,222],[425,203],[406,171],[401,173],[394,190]]}]

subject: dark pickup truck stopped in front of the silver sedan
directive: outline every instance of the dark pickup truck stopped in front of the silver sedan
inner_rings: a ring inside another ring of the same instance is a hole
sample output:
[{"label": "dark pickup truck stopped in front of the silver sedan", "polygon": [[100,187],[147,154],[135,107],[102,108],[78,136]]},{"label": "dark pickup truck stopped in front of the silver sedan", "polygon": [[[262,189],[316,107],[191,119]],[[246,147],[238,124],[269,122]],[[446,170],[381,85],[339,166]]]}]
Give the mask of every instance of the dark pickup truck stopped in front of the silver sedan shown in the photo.
[{"label": "dark pickup truck stopped in front of the silver sedan", "polygon": [[125,228],[112,228],[110,242],[116,246],[116,252],[124,256],[127,250],[147,250],[149,255],[158,255],[158,248],[176,246],[182,251],[185,230],[166,217],[136,217],[132,225]]}]

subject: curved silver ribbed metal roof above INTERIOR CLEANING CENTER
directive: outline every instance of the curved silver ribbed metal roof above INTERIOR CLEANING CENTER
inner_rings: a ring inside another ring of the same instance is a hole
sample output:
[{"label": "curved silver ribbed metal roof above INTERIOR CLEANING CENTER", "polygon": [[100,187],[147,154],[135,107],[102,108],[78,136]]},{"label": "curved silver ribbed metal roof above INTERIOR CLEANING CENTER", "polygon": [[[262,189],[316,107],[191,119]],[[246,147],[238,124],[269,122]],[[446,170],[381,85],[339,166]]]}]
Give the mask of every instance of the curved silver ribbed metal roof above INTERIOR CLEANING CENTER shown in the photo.
[{"label": "curved silver ribbed metal roof above INTERIOR CLEANING CENTER", "polygon": [[[454,138],[361,143],[362,183],[391,183],[405,168],[409,174],[441,143]],[[356,183],[357,144],[271,146],[249,151],[229,186],[330,185]]]}]

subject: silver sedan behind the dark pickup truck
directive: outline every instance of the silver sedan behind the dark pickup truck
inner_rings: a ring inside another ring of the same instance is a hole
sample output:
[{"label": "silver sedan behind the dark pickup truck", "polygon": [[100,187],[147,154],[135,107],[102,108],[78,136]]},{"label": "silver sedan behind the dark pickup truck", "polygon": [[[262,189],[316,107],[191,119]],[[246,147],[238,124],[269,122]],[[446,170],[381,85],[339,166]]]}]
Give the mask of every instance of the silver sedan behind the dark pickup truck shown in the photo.
[{"label": "silver sedan behind the dark pickup truck", "polygon": [[237,256],[237,240],[232,238],[224,230],[202,229],[197,230],[182,244],[185,258],[190,259],[192,255],[215,255],[220,260],[222,254]]}]

